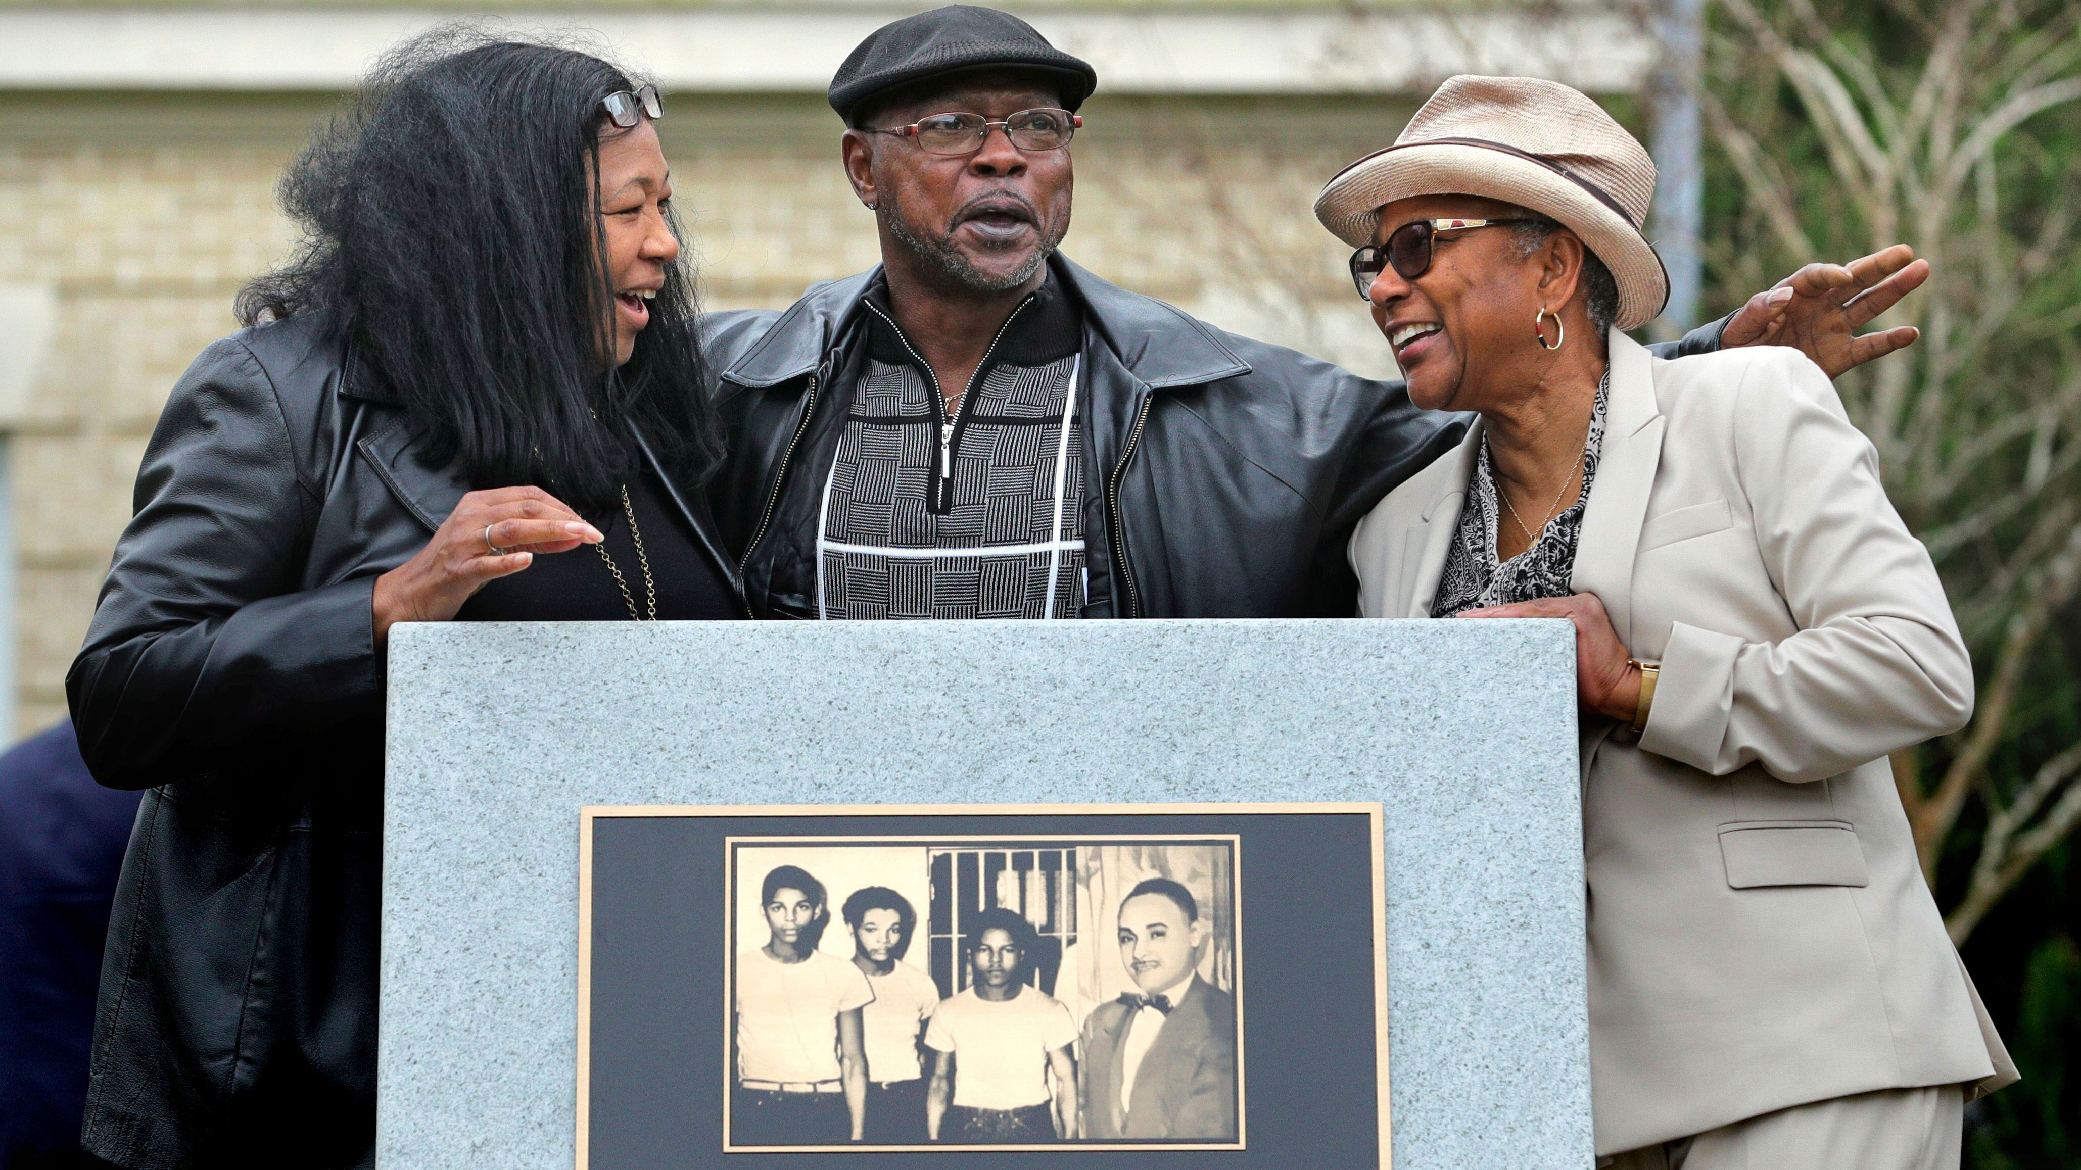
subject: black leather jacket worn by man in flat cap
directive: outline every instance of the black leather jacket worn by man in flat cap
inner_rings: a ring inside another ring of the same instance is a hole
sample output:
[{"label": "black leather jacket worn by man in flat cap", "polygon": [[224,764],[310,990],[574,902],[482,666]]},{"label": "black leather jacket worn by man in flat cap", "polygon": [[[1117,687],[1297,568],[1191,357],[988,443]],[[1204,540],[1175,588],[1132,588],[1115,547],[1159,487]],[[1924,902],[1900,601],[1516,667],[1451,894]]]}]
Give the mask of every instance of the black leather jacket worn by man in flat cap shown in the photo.
[{"label": "black leather jacket worn by man in flat cap", "polygon": [[[1224,333],[1065,256],[1049,264],[1084,316],[1084,616],[1355,614],[1353,527],[1459,443],[1467,416],[1415,408],[1401,381]],[[757,616],[816,614],[820,491],[878,273],[816,285],[778,314],[708,319],[730,427],[712,498]],[[1717,348],[1721,325],[1681,352]]]}]

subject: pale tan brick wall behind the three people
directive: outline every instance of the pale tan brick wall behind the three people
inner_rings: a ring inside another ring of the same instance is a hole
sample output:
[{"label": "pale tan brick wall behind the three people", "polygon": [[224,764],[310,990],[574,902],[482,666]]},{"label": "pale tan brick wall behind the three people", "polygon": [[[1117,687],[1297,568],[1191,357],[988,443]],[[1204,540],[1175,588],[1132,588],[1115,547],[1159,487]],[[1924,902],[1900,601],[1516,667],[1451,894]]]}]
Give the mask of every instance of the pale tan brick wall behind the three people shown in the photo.
[{"label": "pale tan brick wall behind the three people", "polygon": [[[137,458],[173,381],[229,333],[239,283],[296,241],[275,175],[329,98],[0,96],[0,283],[52,287],[54,352],[15,433],[17,731],[65,712]],[[1386,373],[1309,214],[1384,146],[1378,100],[1097,100],[1063,250],[1219,325]],[[674,98],[662,123],[710,306],[782,306],[876,260],[814,98]],[[4,339],[0,339],[4,344]]]}]

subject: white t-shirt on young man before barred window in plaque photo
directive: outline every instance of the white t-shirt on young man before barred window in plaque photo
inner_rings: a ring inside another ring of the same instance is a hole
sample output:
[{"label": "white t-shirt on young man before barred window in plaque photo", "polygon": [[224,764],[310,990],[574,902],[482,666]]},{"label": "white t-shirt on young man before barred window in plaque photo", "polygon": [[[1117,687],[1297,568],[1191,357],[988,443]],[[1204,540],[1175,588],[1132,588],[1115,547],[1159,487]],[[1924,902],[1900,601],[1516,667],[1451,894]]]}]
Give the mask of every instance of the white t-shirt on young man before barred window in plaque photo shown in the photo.
[{"label": "white t-shirt on young man before barred window in plaque photo", "polygon": [[991,1003],[976,989],[932,1012],[924,1043],[953,1053],[953,1103],[970,1110],[1045,1105],[1047,1055],[1076,1041],[1070,1008],[1038,987]]}]

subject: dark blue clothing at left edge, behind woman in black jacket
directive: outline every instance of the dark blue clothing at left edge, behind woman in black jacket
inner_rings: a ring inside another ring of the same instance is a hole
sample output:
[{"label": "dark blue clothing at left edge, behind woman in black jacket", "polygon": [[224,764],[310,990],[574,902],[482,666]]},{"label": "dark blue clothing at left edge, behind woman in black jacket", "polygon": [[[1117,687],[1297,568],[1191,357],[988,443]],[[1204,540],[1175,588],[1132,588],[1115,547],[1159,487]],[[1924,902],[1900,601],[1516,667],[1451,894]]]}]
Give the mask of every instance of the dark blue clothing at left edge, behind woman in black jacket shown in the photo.
[{"label": "dark blue clothing at left edge, behind woman in black jacket", "polygon": [[79,1151],[102,939],[139,795],[94,783],[71,722],[0,756],[0,1168]]}]

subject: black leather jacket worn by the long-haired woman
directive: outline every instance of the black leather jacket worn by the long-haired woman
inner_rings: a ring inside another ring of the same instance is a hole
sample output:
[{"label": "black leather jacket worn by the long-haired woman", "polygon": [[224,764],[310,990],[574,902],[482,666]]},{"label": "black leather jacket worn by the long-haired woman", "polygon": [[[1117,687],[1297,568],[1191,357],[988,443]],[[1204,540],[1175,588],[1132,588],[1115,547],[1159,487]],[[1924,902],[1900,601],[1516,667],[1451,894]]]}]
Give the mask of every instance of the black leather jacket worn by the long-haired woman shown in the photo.
[{"label": "black leather jacket worn by the long-haired woman", "polygon": [[[102,960],[92,1153],[370,1162],[372,589],[466,489],[420,462],[404,408],[320,319],[227,337],[173,389],[67,675],[94,777],[152,789]],[[699,510],[674,502],[735,581]]]}]

